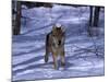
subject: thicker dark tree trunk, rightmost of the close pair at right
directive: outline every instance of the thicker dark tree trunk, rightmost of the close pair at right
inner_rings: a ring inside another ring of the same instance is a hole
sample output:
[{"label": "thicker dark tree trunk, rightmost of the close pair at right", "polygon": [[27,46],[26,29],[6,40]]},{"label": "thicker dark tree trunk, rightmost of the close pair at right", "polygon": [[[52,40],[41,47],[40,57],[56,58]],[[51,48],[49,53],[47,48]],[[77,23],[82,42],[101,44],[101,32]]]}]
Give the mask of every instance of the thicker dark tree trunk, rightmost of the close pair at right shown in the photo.
[{"label": "thicker dark tree trunk, rightmost of the close pair at right", "polygon": [[96,27],[98,26],[98,22],[99,22],[99,11],[100,11],[100,7],[95,7],[93,26],[96,26]]}]

